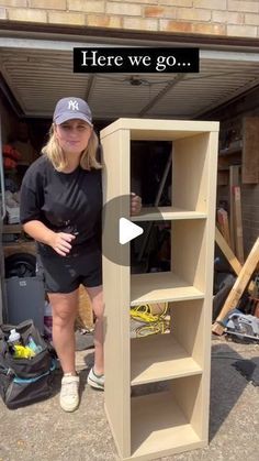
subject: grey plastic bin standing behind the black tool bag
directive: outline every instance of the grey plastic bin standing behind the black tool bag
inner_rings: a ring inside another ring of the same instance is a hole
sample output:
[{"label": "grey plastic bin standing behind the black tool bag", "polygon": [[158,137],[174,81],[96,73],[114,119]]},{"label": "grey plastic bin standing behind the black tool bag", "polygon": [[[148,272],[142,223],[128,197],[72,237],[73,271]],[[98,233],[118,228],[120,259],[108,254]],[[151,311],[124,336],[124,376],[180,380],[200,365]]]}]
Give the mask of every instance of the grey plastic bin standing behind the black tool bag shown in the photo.
[{"label": "grey plastic bin standing behind the black tool bag", "polygon": [[8,322],[12,325],[32,319],[44,332],[45,290],[43,277],[5,278]]}]

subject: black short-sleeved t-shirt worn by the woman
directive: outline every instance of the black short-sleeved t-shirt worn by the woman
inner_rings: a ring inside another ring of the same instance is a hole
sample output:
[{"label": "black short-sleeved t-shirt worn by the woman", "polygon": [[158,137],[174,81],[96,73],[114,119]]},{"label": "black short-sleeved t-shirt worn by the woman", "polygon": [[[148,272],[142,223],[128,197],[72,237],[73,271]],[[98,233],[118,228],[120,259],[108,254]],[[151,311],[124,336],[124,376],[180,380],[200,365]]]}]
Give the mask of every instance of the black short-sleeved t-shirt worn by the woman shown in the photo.
[{"label": "black short-sleeved t-shirt worn by the woman", "polygon": [[[55,232],[74,233],[70,254],[79,245],[100,243],[101,208],[100,169],[86,171],[79,165],[72,173],[60,173],[43,155],[25,173],[21,186],[21,222],[36,219]],[[43,254],[57,254],[43,243],[38,249]]]}]

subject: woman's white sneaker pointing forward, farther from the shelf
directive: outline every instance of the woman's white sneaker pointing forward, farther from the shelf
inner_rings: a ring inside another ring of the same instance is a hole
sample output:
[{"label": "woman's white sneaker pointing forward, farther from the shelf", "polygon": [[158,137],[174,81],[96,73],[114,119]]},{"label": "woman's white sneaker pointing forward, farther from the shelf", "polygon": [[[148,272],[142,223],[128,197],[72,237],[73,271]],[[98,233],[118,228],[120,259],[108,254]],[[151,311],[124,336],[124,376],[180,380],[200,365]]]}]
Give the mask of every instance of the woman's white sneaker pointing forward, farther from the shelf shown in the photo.
[{"label": "woman's white sneaker pointing forward, farther from the shelf", "polygon": [[79,376],[64,375],[59,396],[64,411],[75,411],[79,405]]}]

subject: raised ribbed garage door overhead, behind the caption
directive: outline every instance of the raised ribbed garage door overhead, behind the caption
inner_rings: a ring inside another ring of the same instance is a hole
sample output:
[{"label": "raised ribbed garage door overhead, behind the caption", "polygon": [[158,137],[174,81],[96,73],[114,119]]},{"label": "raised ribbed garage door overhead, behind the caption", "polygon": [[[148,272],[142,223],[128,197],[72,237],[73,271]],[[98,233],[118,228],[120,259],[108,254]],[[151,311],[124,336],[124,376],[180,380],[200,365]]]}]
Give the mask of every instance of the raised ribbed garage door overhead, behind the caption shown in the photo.
[{"label": "raised ribbed garage door overhead, behind the caption", "polygon": [[75,95],[88,100],[94,120],[195,119],[259,84],[259,53],[201,50],[199,74],[89,75],[72,72],[76,46],[108,45],[0,39],[1,87],[22,116],[50,117],[57,99]]}]

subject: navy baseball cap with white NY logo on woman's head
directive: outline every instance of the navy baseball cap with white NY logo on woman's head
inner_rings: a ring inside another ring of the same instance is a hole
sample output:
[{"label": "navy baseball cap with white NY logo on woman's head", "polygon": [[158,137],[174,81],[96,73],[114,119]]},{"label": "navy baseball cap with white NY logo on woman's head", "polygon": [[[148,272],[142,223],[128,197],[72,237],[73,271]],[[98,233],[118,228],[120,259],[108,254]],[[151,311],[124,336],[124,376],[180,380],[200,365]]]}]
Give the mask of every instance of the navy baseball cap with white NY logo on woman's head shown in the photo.
[{"label": "navy baseball cap with white NY logo on woman's head", "polygon": [[53,121],[60,124],[71,119],[85,120],[92,127],[92,113],[88,103],[81,98],[59,99],[55,107]]}]

